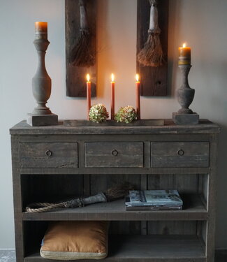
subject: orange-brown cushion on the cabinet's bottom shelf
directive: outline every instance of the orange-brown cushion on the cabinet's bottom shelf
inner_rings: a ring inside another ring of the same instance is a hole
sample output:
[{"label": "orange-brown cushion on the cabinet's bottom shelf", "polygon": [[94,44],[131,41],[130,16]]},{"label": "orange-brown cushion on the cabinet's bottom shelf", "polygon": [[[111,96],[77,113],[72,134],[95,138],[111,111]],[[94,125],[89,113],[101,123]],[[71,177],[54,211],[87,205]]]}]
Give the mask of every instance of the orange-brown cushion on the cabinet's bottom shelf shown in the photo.
[{"label": "orange-brown cushion on the cabinet's bottom shelf", "polygon": [[41,247],[45,259],[105,259],[107,255],[107,221],[51,222]]}]

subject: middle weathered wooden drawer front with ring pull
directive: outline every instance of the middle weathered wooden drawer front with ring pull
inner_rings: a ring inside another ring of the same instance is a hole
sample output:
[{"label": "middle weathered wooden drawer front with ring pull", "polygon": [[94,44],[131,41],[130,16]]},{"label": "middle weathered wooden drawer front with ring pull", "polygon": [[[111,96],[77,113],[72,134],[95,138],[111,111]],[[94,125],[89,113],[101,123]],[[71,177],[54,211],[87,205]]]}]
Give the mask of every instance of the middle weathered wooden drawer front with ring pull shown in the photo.
[{"label": "middle weathered wooden drawer front with ring pull", "polygon": [[87,168],[142,168],[143,143],[85,143]]}]

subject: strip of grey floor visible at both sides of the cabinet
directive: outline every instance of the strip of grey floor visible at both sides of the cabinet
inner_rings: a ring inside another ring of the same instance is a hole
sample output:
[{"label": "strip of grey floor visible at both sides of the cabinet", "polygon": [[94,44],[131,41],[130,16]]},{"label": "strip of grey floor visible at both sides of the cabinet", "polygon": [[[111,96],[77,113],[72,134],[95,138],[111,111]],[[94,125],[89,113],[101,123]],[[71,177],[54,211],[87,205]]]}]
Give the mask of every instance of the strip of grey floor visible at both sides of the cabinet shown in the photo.
[{"label": "strip of grey floor visible at both sides of the cabinet", "polygon": [[[0,250],[0,262],[15,262],[15,250]],[[227,250],[216,252],[215,262],[227,262]]]}]

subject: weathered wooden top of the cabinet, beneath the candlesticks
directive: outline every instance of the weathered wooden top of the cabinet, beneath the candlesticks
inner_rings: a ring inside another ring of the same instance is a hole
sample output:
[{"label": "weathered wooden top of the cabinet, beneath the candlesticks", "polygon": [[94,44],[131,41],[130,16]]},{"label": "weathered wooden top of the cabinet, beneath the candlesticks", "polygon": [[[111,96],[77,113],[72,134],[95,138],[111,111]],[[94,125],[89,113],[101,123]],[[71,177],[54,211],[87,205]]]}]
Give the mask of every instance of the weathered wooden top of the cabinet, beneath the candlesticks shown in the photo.
[{"label": "weathered wooden top of the cabinet, beneath the candlesticks", "polygon": [[54,135],[54,134],[152,134],[152,133],[219,133],[220,129],[217,124],[208,120],[200,120],[200,124],[177,126],[171,119],[165,120],[164,126],[64,126],[59,122],[57,126],[29,126],[26,121],[22,121],[10,129],[11,135]]}]

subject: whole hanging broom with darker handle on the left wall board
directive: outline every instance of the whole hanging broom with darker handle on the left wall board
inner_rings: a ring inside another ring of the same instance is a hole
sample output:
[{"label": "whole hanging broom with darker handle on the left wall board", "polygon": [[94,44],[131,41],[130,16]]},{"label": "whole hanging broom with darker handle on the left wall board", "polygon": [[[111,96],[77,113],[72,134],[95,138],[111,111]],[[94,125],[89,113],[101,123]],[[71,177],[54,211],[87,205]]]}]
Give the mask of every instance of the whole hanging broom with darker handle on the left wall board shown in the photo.
[{"label": "whole hanging broom with darker handle on the left wall board", "polygon": [[91,46],[91,32],[88,27],[85,0],[79,0],[80,6],[80,35],[69,54],[69,62],[75,66],[94,66],[95,54]]}]

